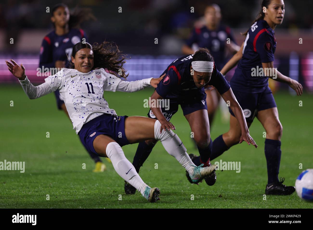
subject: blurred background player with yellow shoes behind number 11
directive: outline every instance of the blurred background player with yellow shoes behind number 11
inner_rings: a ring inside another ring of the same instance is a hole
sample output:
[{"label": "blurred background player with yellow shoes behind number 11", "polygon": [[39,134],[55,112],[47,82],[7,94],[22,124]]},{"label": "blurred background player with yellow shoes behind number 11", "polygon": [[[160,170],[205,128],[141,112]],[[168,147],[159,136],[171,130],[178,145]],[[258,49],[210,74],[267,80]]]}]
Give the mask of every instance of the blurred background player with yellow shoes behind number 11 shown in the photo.
[{"label": "blurred background player with yellow shoes behind number 11", "polygon": [[[72,55],[73,46],[83,41],[87,42],[86,35],[79,28],[80,23],[88,19],[94,19],[90,9],[75,9],[73,14],[69,13],[69,8],[63,3],[59,3],[52,8],[51,22],[54,30],[47,34],[40,48],[39,68],[69,68],[71,63],[69,57]],[[63,110],[69,117],[62,96],[59,90],[54,91],[57,106]],[[95,161],[94,172],[103,172],[106,169],[105,164],[99,156],[88,152]]]}]

